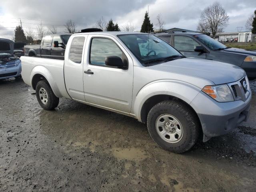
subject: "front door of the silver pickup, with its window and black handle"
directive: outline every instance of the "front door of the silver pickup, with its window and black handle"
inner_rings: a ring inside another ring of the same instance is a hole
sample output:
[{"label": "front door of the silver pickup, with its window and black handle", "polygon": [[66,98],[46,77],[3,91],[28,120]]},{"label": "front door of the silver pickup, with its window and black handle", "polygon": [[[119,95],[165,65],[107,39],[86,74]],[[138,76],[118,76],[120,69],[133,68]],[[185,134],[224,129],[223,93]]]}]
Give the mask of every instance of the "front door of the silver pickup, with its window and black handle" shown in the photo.
[{"label": "front door of the silver pickup, with its window and black handle", "polygon": [[[90,35],[86,47],[87,54],[84,54],[86,102],[129,113],[133,88],[133,62],[129,54],[116,39],[109,36],[103,38]],[[106,66],[105,58],[108,56],[118,56],[123,61],[128,61],[128,69]]]}]

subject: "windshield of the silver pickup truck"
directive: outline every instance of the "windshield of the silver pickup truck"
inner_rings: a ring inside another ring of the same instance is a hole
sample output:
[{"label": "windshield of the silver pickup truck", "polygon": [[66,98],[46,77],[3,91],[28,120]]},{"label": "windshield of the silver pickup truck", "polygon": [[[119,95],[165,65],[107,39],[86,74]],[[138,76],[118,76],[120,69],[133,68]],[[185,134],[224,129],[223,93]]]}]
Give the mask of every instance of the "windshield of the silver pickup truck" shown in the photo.
[{"label": "windshield of the silver pickup truck", "polygon": [[151,34],[118,35],[118,38],[144,66],[184,57],[168,43]]}]

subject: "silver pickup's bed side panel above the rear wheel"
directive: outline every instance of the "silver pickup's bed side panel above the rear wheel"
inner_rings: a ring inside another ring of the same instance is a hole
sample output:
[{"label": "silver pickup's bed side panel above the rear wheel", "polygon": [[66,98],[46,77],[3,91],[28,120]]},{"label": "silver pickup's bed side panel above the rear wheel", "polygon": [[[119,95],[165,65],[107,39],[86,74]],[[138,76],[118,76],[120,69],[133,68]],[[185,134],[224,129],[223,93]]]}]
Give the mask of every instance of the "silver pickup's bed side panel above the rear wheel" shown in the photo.
[{"label": "silver pickup's bed side panel above the rear wheel", "polygon": [[[41,74],[48,80],[57,97],[70,98],[66,92],[64,81],[64,60],[26,56],[22,56],[20,59],[22,61],[22,79],[26,84],[32,86],[34,75]],[[35,87],[33,88],[35,89]]]}]

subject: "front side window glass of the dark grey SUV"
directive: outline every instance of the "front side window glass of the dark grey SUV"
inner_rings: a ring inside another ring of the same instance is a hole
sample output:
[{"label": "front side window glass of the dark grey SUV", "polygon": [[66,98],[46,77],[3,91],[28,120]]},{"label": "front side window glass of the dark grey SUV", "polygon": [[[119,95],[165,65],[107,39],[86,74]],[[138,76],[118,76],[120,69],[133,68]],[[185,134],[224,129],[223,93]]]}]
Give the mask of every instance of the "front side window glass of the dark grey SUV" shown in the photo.
[{"label": "front side window glass of the dark grey SUV", "polygon": [[200,44],[190,37],[174,36],[174,48],[179,51],[194,52],[195,46],[200,46]]}]

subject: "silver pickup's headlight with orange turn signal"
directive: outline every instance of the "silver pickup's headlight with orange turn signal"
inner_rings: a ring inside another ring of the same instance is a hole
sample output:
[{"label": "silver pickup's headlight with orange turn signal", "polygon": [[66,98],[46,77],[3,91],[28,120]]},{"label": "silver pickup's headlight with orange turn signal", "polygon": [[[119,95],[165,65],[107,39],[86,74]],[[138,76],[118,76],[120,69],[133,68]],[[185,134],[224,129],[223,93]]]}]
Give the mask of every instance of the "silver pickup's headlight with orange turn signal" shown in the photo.
[{"label": "silver pickup's headlight with orange turn signal", "polygon": [[216,86],[205,86],[202,89],[202,91],[208,94],[211,98],[214,98],[218,102],[234,101],[231,90],[227,84],[216,85]]}]

